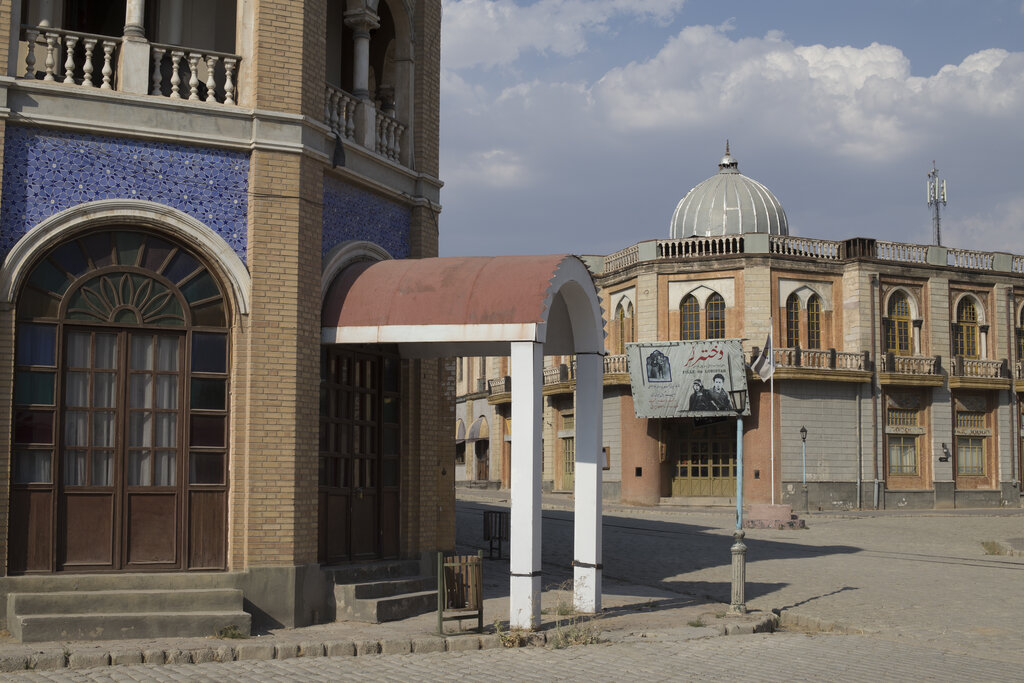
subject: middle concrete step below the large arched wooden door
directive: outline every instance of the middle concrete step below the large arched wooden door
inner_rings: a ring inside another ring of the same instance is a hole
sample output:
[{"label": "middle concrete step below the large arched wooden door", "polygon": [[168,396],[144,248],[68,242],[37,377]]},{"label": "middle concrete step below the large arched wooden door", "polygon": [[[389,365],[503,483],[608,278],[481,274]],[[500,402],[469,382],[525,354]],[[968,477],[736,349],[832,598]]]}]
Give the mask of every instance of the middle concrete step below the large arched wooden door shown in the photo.
[{"label": "middle concrete step below the large arched wooden door", "polygon": [[242,591],[228,588],[148,591],[11,593],[8,614],[216,612],[242,609]]}]

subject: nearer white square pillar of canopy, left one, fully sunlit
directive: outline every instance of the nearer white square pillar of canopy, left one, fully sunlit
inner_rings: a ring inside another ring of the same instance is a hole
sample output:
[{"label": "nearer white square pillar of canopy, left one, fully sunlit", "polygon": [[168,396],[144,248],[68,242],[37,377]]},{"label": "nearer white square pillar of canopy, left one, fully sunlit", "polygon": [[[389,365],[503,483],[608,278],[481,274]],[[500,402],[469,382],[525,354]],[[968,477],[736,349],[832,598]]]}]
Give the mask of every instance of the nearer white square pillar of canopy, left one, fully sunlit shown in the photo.
[{"label": "nearer white square pillar of canopy, left one, fully sunlit", "polygon": [[544,347],[512,343],[512,514],[509,624],[541,625],[541,387]]}]

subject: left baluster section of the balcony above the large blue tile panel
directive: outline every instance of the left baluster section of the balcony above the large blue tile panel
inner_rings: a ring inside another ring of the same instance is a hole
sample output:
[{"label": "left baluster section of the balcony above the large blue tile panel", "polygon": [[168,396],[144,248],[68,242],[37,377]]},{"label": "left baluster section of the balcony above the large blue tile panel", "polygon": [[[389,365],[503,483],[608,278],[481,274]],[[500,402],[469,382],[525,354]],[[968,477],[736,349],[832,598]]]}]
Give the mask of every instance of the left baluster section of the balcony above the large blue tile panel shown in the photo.
[{"label": "left baluster section of the balcony above the large blue tile panel", "polygon": [[25,78],[100,90],[116,88],[120,38],[49,27],[23,26],[22,30]]}]

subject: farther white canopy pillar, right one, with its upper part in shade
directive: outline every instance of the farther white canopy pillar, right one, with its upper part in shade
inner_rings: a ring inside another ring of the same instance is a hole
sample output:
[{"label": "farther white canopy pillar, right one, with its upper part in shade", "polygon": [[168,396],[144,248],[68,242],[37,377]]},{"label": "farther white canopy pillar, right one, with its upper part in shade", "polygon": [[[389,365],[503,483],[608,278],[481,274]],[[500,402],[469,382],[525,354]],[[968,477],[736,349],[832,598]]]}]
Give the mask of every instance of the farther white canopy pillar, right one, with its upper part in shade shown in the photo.
[{"label": "farther white canopy pillar, right one, with its upper part in shade", "polygon": [[575,527],[573,602],[578,611],[601,610],[601,470],[604,360],[599,353],[577,354]]}]

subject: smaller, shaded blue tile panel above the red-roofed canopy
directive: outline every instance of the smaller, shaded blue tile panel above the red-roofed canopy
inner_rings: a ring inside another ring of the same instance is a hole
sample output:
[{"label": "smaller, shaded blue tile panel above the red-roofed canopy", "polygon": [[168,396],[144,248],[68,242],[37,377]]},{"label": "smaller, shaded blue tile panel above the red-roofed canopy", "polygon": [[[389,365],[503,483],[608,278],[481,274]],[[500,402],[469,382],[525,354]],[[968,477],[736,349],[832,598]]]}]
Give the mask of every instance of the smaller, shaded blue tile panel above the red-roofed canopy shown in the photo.
[{"label": "smaller, shaded blue tile panel above the red-roofed canopy", "polygon": [[324,178],[323,252],[348,240],[366,240],[393,258],[409,257],[409,229],[413,212],[336,178]]}]

